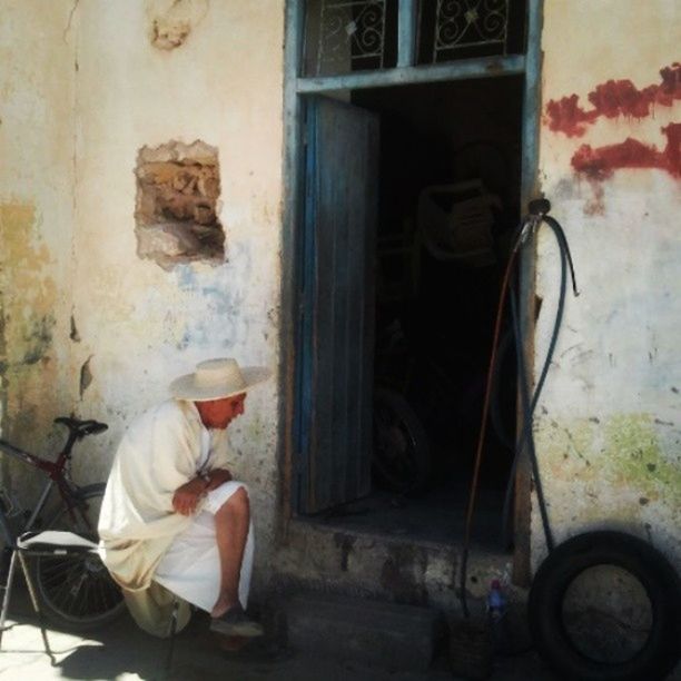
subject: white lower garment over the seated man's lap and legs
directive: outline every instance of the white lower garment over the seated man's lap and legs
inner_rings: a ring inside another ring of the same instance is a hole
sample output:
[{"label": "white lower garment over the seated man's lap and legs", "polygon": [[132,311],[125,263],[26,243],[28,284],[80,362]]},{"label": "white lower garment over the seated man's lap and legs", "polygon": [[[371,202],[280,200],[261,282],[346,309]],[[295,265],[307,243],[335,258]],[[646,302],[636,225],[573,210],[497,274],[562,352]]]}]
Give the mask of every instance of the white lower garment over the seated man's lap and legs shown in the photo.
[{"label": "white lower garment over the seated man's lap and legs", "polygon": [[[201,511],[191,525],[175,537],[154,576],[162,586],[207,612],[213,610],[220,591],[220,555],[215,535],[215,514],[241,487],[248,492],[244,483],[229,481],[208,492]],[[239,601],[244,609],[250,589],[253,551],[251,523],[239,579]]]}]

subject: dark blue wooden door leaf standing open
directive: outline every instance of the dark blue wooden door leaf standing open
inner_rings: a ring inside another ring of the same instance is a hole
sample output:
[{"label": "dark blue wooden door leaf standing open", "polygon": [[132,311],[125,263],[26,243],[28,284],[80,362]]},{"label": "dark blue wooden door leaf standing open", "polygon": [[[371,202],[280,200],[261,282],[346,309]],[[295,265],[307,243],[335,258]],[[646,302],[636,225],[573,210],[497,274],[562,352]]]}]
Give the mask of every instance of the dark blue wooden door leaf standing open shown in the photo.
[{"label": "dark blue wooden door leaf standing open", "polygon": [[300,513],[369,492],[378,119],[309,98],[300,328]]}]

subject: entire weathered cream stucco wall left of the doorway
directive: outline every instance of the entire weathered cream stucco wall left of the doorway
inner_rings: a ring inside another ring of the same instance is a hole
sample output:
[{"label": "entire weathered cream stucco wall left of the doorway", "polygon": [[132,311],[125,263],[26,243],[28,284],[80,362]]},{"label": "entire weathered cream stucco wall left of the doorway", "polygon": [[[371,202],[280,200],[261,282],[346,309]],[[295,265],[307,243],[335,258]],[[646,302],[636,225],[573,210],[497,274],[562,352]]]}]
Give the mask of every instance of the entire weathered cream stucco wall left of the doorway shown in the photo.
[{"label": "entire weathered cream stucco wall left of the doorway", "polygon": [[[0,219],[16,289],[2,296],[3,413],[17,430],[27,405],[37,441],[71,409],[109,423],[76,467],[81,481],[102,480],[130,420],[198,361],[235,356],[276,375],[283,2],[2,7]],[[138,152],[174,140],[217,149],[224,263],[166,270],[137,255]],[[264,561],[277,408],[272,379],[230,427]]]}]

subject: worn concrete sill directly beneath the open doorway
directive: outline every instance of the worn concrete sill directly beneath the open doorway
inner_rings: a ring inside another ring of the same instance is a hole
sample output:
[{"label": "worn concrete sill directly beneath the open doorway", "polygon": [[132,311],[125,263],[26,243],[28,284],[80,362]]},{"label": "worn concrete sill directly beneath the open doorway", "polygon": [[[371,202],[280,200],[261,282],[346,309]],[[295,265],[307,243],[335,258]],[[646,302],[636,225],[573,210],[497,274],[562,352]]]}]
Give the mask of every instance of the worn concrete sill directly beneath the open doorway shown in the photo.
[{"label": "worn concrete sill directly beneath the open doorway", "polygon": [[[368,598],[377,601],[434,608],[461,614],[461,545],[416,542],[292,521],[272,564],[267,590],[298,591]],[[472,546],[466,593],[484,602],[490,583],[509,585],[512,556]],[[511,600],[524,600],[524,590],[509,586]]]}]

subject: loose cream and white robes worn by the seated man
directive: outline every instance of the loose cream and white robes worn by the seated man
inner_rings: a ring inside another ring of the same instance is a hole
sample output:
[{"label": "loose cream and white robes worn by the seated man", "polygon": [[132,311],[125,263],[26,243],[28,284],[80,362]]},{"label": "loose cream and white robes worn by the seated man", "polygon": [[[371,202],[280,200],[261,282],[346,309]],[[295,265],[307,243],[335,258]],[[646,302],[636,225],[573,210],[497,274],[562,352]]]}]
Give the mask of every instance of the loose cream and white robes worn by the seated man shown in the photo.
[{"label": "loose cream and white robes worn by the seated man", "polygon": [[[210,611],[220,585],[214,514],[244,486],[231,481],[207,494],[193,516],[172,510],[175,491],[197,473],[228,468],[226,431],[207,430],[194,403],[170,399],[142,414],[124,436],[99,517],[103,561],[124,589],[151,581]],[[253,570],[249,529],[239,600]]]}]

